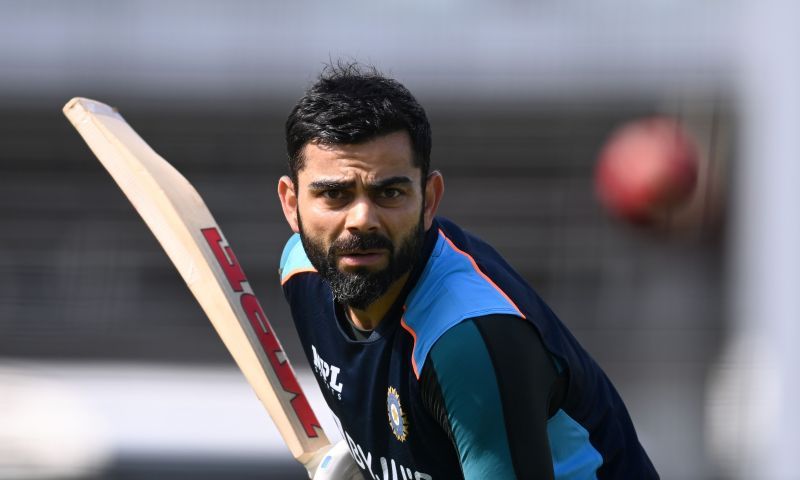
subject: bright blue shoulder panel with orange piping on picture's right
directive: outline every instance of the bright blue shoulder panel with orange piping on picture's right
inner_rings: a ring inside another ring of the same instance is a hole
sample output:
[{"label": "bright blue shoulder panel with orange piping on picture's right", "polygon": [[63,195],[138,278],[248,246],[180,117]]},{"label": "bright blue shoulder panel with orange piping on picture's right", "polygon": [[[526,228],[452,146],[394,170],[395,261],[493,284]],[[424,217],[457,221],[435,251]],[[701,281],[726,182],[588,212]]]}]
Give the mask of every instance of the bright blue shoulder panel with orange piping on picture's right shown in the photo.
[{"label": "bright blue shoulder panel with orange piping on picture's right", "polygon": [[464,320],[496,314],[525,318],[469,249],[444,229],[437,233],[428,263],[408,296],[402,323],[414,337],[412,363],[417,377],[433,344]]}]

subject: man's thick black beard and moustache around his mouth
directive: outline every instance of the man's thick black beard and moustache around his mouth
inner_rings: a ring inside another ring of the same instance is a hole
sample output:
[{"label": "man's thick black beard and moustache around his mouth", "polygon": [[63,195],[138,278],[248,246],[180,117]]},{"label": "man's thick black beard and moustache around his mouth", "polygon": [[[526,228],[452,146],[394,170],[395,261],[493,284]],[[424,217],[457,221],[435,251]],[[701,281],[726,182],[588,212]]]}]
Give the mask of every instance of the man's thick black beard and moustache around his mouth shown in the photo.
[{"label": "man's thick black beard and moustache around his mouth", "polygon": [[[422,254],[425,236],[422,215],[416,227],[400,240],[398,246],[377,233],[354,233],[336,239],[327,250],[322,242],[305,234],[299,213],[297,222],[306,255],[320,276],[330,285],[333,299],[358,310],[364,310],[386,293],[395,280],[411,271]],[[343,272],[336,266],[339,252],[371,249],[385,249],[389,252],[389,263],[386,267],[375,271],[362,267]]]}]

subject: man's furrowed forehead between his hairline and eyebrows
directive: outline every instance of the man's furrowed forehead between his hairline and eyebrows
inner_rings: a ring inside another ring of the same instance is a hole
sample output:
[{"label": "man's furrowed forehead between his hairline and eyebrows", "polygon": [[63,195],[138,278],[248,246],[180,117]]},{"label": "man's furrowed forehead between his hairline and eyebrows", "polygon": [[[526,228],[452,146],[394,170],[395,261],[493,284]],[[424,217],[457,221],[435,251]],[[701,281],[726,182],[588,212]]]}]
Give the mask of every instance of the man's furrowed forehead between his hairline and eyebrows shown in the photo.
[{"label": "man's furrowed forehead between his hairline and eyebrows", "polygon": [[298,172],[298,177],[310,181],[321,177],[354,176],[379,179],[400,174],[418,178],[421,171],[414,166],[413,160],[411,138],[405,131],[357,144],[309,143],[303,147],[303,168]]}]

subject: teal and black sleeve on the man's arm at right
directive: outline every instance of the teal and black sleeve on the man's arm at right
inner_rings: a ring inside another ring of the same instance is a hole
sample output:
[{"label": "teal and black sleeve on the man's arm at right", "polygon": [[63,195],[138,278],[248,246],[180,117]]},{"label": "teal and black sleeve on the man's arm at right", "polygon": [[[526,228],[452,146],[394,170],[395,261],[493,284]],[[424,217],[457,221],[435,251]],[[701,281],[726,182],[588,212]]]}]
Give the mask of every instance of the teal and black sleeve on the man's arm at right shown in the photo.
[{"label": "teal and black sleeve on the man's arm at right", "polygon": [[547,419],[565,383],[529,322],[488,315],[456,325],[434,344],[420,381],[464,478],[553,478]]}]

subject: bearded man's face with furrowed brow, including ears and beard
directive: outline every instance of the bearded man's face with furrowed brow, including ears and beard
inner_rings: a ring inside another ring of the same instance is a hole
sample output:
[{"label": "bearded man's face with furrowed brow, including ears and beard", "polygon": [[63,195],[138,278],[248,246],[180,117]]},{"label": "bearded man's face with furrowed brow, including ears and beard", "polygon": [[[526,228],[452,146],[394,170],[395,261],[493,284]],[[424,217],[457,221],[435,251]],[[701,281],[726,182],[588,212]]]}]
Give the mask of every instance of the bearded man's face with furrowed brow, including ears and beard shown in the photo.
[{"label": "bearded man's face with furrowed brow, including ears and beard", "polygon": [[284,213],[336,300],[364,309],[411,269],[431,223],[409,136],[308,144],[303,157],[297,185],[281,179]]}]

